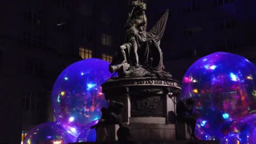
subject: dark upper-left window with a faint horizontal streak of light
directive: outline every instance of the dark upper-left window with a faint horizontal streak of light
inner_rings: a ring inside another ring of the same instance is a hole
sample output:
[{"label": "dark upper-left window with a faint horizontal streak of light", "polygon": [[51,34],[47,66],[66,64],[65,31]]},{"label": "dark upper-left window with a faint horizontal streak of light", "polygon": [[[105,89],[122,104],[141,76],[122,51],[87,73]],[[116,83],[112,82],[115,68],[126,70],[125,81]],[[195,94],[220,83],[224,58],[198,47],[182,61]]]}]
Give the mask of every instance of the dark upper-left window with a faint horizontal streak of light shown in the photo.
[{"label": "dark upper-left window with a faint horizontal streak of light", "polygon": [[54,29],[59,32],[68,32],[69,31],[69,21],[58,17],[54,19]]}]

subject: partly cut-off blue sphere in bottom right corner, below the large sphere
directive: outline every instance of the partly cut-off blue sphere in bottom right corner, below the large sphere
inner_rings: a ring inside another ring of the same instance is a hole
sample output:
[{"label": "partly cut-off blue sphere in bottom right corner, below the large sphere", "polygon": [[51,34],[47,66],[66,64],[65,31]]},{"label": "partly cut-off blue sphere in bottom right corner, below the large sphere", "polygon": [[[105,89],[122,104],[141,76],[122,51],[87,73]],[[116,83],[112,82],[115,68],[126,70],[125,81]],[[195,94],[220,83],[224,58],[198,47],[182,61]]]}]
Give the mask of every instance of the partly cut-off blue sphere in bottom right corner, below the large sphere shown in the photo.
[{"label": "partly cut-off blue sphere in bottom right corner, below the large sphere", "polygon": [[[256,122],[256,113],[249,113],[236,119],[230,126],[228,142],[226,144],[249,143],[249,139],[251,139],[250,131],[253,128],[254,122]],[[251,136],[253,137],[253,135]]]}]

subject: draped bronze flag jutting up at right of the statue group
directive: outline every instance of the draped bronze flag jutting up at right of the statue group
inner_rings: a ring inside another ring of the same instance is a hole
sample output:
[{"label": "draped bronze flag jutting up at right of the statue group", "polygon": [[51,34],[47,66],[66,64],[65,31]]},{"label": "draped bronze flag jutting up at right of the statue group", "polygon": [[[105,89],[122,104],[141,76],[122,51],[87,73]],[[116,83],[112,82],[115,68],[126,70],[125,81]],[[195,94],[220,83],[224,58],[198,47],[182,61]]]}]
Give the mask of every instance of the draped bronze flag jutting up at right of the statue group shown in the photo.
[{"label": "draped bronze flag jutting up at right of the statue group", "polygon": [[160,43],[162,35],[164,35],[165,32],[168,14],[169,10],[167,9],[165,14],[162,15],[161,19],[155,24],[155,26],[152,27],[149,32],[147,32],[147,37],[149,39],[154,39],[157,43]]}]

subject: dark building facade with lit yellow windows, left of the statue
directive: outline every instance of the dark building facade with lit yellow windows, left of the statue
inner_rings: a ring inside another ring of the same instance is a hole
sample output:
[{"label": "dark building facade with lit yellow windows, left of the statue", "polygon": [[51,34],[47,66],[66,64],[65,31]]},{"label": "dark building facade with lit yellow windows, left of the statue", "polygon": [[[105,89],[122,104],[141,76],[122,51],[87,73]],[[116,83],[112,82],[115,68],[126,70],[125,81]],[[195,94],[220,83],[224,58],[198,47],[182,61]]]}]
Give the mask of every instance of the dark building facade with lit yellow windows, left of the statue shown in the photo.
[{"label": "dark building facade with lit yellow windows, left of the statue", "polygon": [[118,45],[117,4],[0,2],[0,143],[20,143],[34,126],[54,121],[51,91],[68,65],[91,57],[112,61]]}]

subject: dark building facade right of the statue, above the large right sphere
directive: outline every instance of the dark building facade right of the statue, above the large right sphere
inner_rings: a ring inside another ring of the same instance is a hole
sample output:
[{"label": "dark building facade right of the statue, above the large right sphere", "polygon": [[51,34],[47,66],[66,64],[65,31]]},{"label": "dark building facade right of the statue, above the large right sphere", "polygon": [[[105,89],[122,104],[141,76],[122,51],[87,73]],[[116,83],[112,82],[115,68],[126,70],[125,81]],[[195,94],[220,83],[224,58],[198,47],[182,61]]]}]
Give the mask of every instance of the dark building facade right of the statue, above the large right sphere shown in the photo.
[{"label": "dark building facade right of the statue, above the large right sphere", "polygon": [[182,80],[197,59],[217,51],[244,56],[255,64],[255,5],[243,0],[148,1],[153,19],[170,9],[161,48],[174,79]]}]

